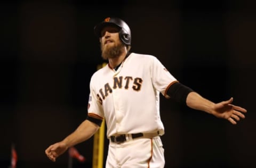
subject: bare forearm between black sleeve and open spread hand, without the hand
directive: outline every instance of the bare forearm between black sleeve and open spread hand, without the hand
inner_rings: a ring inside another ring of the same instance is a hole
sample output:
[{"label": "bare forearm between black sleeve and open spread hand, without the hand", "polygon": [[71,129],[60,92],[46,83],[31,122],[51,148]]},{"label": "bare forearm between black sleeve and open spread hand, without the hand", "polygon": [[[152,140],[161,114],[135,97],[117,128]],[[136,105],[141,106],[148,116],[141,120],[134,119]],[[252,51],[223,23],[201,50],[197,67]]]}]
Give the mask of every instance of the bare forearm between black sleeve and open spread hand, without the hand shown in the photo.
[{"label": "bare forearm between black sleeve and open spread hand, without the hand", "polygon": [[194,91],[188,94],[186,103],[190,108],[212,114],[214,103]]}]

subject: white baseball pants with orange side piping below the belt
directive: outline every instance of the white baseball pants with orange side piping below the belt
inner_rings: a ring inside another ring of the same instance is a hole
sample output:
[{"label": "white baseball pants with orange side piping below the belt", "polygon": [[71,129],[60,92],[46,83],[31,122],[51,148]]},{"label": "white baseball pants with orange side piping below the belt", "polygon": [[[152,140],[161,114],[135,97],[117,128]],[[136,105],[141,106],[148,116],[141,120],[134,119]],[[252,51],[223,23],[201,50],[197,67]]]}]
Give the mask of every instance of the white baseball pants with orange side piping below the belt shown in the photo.
[{"label": "white baseball pants with orange side piping below the belt", "polygon": [[159,136],[122,144],[109,142],[106,168],[161,168],[164,164],[164,148]]}]

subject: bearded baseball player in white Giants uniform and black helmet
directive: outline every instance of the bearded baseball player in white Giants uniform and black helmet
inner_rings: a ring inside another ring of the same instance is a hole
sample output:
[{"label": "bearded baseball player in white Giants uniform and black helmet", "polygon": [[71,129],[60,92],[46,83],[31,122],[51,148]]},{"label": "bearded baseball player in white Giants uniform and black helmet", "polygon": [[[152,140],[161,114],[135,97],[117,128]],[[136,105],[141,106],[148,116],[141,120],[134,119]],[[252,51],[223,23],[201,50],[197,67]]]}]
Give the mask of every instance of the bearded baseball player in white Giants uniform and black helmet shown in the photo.
[{"label": "bearded baseball player in white Giants uniform and black helmet", "polygon": [[164,167],[159,94],[236,124],[246,110],[233,98],[213,103],[182,85],[153,55],[131,53],[131,30],[119,18],[94,27],[108,64],[90,81],[88,116],[79,127],[45,150],[52,160],[94,135],[103,119],[109,139],[106,167]]}]

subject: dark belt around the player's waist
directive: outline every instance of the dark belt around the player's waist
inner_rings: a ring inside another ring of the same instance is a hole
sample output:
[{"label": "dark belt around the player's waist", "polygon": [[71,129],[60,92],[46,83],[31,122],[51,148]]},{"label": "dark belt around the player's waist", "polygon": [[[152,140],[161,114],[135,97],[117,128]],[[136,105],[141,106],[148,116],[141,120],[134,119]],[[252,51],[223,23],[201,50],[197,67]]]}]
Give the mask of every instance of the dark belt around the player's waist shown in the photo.
[{"label": "dark belt around the player's waist", "polygon": [[132,140],[135,138],[145,137],[145,138],[153,138],[159,135],[159,131],[150,132],[150,133],[131,133],[131,134],[121,134],[117,136],[110,136],[111,142],[115,142],[117,144],[121,144],[127,140]]}]

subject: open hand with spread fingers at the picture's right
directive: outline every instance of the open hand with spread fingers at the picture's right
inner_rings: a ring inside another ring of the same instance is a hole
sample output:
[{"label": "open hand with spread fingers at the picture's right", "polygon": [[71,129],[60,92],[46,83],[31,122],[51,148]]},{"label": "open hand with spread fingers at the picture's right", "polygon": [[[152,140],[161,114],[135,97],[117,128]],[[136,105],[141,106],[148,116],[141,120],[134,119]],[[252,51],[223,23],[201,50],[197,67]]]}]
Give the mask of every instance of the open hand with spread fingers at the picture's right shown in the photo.
[{"label": "open hand with spread fingers at the picture's right", "polygon": [[244,119],[245,115],[243,113],[246,113],[246,109],[232,105],[233,97],[231,97],[229,100],[217,103],[213,107],[213,115],[216,117],[226,119],[232,124],[236,124],[236,121],[239,121],[240,118]]}]

